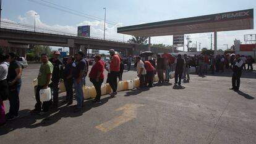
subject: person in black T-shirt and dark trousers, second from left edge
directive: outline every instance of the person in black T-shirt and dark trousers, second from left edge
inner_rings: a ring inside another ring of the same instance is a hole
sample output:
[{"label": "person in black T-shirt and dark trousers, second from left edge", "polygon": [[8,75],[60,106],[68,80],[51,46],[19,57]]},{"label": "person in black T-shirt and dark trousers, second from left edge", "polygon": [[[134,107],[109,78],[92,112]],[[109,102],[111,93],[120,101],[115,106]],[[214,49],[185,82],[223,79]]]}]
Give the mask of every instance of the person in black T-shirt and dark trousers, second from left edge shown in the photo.
[{"label": "person in black T-shirt and dark trousers, second from left edge", "polygon": [[21,75],[22,75],[22,65],[16,60],[17,55],[13,52],[9,53],[10,62],[7,74],[7,82],[9,84],[9,102],[10,110],[6,114],[7,120],[12,120],[19,117],[19,93],[20,87],[22,85]]}]

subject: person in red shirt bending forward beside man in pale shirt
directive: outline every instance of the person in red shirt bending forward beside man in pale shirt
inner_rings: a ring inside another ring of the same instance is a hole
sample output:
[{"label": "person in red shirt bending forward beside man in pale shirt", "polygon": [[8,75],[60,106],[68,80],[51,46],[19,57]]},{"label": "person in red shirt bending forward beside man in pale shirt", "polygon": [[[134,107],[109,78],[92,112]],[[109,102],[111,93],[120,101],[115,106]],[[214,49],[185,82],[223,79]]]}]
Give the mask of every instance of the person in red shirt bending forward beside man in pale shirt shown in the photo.
[{"label": "person in red shirt bending forward beside man in pale shirt", "polygon": [[145,68],[146,68],[146,71],[147,71],[146,84],[148,84],[148,87],[153,87],[153,78],[154,78],[154,75],[155,75],[155,68],[148,61],[145,61],[144,65],[145,65]]}]

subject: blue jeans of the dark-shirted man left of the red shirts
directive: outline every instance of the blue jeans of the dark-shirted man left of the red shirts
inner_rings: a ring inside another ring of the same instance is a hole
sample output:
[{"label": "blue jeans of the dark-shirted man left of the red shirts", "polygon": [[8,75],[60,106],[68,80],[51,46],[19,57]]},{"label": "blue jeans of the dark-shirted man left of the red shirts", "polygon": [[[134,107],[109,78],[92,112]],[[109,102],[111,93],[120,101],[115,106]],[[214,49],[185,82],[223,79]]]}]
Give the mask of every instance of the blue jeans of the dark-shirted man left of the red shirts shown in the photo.
[{"label": "blue jeans of the dark-shirted man left of the red shirts", "polygon": [[75,79],[74,87],[75,87],[75,94],[77,96],[77,108],[82,108],[83,106],[83,84],[85,83],[85,78],[82,78],[79,84]]}]

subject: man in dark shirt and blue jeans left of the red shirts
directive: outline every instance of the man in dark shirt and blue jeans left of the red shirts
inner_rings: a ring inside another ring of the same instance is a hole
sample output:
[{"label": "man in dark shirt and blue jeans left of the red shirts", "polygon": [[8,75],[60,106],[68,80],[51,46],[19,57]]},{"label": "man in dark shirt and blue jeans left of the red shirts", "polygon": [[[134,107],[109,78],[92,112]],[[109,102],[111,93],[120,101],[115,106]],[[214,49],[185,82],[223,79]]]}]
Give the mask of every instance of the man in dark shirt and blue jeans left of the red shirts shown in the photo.
[{"label": "man in dark shirt and blue jeans left of the red shirts", "polygon": [[83,52],[78,52],[77,53],[77,65],[75,65],[75,69],[74,69],[74,86],[75,86],[75,94],[77,97],[77,106],[75,107],[74,112],[77,113],[82,109],[83,106],[83,84],[85,84],[85,77],[86,75],[86,69],[87,69],[87,65],[85,62],[85,58],[84,57],[84,53]]}]

